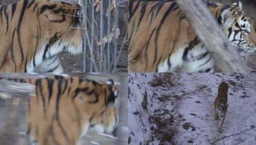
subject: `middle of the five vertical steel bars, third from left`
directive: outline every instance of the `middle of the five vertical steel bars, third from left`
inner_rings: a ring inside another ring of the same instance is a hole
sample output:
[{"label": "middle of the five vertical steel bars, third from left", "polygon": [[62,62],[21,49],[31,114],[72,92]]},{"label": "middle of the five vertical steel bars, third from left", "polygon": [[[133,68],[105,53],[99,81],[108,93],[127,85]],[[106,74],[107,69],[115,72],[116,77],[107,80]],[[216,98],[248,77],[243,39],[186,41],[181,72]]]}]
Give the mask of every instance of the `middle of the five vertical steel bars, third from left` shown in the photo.
[{"label": "middle of the five vertical steel bars, third from left", "polygon": [[100,73],[103,73],[103,0],[100,2]]}]

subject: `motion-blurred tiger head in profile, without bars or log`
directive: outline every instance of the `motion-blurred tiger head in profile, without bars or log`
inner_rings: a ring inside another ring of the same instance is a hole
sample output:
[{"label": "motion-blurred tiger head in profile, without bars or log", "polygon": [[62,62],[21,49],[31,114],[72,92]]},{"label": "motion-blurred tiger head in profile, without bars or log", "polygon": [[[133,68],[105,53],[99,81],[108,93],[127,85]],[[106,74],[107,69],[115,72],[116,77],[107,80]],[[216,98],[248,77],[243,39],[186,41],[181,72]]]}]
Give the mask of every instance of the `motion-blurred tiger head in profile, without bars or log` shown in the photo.
[{"label": "motion-blurred tiger head in profile, without bars or log", "polygon": [[86,88],[85,94],[81,91],[77,96],[80,98],[78,100],[82,100],[84,108],[89,108],[91,113],[89,127],[100,133],[113,132],[119,118],[119,90],[115,87],[113,80],[108,80],[103,84],[96,82],[92,84],[95,85],[94,88]]}]

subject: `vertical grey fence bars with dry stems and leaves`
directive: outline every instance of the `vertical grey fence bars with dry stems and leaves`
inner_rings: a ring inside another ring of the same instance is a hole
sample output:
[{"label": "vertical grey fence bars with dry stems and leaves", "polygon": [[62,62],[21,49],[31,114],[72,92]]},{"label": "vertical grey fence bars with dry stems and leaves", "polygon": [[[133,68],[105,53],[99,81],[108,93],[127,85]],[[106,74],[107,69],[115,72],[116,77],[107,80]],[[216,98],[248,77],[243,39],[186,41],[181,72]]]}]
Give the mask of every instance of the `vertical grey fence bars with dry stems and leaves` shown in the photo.
[{"label": "vertical grey fence bars with dry stems and leaves", "polygon": [[80,0],[83,9],[83,72],[117,72],[122,53],[119,7],[127,0]]}]

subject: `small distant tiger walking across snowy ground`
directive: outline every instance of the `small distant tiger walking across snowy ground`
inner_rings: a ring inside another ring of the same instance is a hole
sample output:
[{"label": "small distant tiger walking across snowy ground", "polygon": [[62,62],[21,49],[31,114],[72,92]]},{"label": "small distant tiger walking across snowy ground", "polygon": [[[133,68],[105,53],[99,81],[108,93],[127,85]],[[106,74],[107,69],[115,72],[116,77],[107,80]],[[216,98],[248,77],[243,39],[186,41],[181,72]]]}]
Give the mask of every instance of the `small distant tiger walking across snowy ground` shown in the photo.
[{"label": "small distant tiger walking across snowy ground", "polygon": [[[214,118],[219,119],[218,132],[222,133],[222,126],[228,109],[228,84],[222,82],[219,84],[218,94],[214,100]],[[220,117],[219,117],[220,113]]]}]

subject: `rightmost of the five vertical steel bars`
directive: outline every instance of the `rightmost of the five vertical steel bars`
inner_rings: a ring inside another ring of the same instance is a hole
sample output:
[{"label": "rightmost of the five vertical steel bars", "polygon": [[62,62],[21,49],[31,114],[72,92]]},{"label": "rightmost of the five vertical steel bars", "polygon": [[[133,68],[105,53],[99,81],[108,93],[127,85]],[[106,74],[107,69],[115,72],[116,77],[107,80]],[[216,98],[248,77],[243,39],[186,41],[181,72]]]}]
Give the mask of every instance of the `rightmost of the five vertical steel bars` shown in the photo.
[{"label": "rightmost of the five vertical steel bars", "polygon": [[118,40],[117,40],[117,29],[118,29],[118,1],[115,0],[115,38],[114,38],[114,72],[116,73],[116,67],[117,67],[117,45],[118,45]]}]

